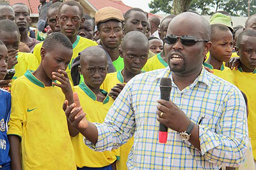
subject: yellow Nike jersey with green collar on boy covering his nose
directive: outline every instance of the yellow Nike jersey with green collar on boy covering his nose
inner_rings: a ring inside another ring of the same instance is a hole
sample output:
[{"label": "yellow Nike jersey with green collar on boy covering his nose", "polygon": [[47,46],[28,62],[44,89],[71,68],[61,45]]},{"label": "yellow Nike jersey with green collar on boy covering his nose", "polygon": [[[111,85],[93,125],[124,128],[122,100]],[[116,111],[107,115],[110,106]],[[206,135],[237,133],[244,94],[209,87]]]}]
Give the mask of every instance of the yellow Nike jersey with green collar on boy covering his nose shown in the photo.
[{"label": "yellow Nike jersey with green collar on boy covering his nose", "polygon": [[45,87],[31,71],[13,82],[8,135],[21,139],[22,169],[76,169],[60,87]]}]

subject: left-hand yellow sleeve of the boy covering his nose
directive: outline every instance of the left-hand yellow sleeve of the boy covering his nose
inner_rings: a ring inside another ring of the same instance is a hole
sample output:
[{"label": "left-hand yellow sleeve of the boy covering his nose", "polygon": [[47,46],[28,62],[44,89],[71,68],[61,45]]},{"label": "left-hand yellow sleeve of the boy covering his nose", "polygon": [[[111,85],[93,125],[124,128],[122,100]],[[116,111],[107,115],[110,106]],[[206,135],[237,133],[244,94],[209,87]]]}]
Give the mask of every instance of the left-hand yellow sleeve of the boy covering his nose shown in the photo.
[{"label": "left-hand yellow sleeve of the boy covering his nose", "polygon": [[15,80],[12,85],[12,110],[10,115],[10,121],[8,122],[8,135],[17,135],[22,138],[22,124],[25,124],[24,115],[26,108],[24,108],[24,96],[26,92],[24,90],[24,83],[20,79]]}]

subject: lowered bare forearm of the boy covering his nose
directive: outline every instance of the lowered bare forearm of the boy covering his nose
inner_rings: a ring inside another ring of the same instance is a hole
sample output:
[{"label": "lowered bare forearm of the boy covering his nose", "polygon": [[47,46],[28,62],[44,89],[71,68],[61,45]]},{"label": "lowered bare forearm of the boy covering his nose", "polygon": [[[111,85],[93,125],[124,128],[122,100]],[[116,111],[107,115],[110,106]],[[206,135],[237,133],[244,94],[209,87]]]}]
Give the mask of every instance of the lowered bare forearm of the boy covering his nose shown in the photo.
[{"label": "lowered bare forearm of the boy covering his nose", "polygon": [[20,138],[17,135],[8,135],[10,142],[11,167],[15,170],[22,170],[20,164]]}]

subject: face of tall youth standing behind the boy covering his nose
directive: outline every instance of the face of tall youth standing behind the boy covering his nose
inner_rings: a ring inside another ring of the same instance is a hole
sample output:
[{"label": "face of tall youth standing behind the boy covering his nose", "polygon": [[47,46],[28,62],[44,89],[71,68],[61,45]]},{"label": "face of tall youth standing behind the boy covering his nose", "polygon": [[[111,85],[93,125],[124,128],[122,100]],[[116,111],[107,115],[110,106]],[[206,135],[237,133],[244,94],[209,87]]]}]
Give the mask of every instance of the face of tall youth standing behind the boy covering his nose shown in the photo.
[{"label": "face of tall youth standing behind the boy covering his nose", "polygon": [[67,4],[61,7],[57,20],[60,24],[61,33],[67,37],[76,36],[80,25],[83,24],[78,6]]}]

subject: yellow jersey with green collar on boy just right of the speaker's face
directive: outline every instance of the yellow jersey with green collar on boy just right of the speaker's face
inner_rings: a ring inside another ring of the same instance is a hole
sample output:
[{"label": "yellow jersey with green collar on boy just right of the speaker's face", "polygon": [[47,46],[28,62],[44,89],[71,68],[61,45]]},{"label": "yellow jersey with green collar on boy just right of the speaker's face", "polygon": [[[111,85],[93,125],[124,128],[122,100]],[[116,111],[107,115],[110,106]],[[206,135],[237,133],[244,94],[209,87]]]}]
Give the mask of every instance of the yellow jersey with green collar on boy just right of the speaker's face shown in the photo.
[{"label": "yellow jersey with green collar on boy just right of the speaker's face", "polygon": [[207,62],[204,62],[203,64],[205,67],[208,67],[213,71],[213,74],[232,83],[233,85],[236,85],[235,83],[235,74],[234,72],[229,68],[225,67],[223,64],[221,65],[220,69],[214,69],[213,66]]}]

